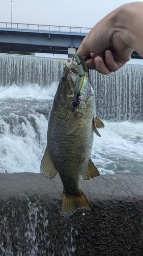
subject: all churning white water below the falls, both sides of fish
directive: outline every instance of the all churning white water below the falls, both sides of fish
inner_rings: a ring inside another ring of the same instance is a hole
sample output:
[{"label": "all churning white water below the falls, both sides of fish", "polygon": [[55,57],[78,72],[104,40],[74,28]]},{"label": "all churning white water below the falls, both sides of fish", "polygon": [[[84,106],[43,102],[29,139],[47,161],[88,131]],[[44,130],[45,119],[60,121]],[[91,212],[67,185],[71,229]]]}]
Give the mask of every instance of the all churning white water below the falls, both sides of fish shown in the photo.
[{"label": "all churning white water below the falls, both sides of fish", "polygon": [[[57,84],[0,87],[0,172],[40,172],[48,115]],[[101,174],[143,174],[143,123],[107,122],[95,135],[92,160]]]}]

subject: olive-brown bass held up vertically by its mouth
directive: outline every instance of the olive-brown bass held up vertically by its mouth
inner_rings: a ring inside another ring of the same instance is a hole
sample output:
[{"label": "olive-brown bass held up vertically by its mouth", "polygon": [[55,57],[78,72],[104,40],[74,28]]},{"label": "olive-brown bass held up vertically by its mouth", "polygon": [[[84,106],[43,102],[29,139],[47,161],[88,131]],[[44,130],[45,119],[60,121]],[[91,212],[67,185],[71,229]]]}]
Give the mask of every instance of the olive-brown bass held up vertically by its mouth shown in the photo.
[{"label": "olive-brown bass held up vertically by its mouth", "polygon": [[[54,179],[59,173],[63,183],[61,214],[67,217],[77,209],[91,210],[81,190],[80,179],[90,180],[99,176],[91,160],[91,151],[94,132],[100,136],[97,128],[104,127],[104,123],[95,113],[95,94],[89,77],[83,101],[77,94],[79,70],[76,60],[68,59],[64,64],[48,121],[47,145],[40,172],[49,179]],[[75,95],[80,99],[79,104],[73,106]]]}]

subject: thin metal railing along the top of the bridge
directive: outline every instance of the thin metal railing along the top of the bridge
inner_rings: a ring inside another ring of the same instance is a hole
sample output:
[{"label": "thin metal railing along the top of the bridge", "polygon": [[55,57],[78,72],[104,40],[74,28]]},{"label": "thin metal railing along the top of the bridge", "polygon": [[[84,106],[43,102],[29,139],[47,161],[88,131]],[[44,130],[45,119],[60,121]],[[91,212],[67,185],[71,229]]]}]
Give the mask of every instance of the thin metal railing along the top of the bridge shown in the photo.
[{"label": "thin metal railing along the top of the bridge", "polygon": [[88,33],[91,30],[91,28],[38,25],[38,24],[24,24],[24,23],[9,23],[9,22],[4,22],[4,23],[0,22],[0,28],[29,29],[29,30],[32,29],[32,30],[77,32],[77,33]]}]

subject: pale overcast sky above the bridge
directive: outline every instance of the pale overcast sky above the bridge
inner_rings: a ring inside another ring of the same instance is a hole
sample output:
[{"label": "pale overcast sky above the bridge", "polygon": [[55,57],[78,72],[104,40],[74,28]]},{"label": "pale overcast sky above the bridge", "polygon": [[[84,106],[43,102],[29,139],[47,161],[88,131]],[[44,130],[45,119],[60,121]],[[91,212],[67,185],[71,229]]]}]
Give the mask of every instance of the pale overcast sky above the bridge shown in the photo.
[{"label": "pale overcast sky above the bridge", "polygon": [[109,12],[129,2],[137,1],[13,0],[11,3],[11,0],[0,0],[0,22],[11,22],[12,10],[13,23],[92,28]]}]

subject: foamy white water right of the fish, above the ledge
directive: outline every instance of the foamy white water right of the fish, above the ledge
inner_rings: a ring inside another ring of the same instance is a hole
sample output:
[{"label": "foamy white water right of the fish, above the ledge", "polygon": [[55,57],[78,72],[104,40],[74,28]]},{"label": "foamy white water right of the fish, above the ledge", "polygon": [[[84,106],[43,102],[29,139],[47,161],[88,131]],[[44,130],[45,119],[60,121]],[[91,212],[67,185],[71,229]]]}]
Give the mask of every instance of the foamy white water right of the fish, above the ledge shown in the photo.
[{"label": "foamy white water right of the fish, above the ledge", "polygon": [[143,174],[143,123],[107,122],[95,137],[92,159],[101,174]]}]

